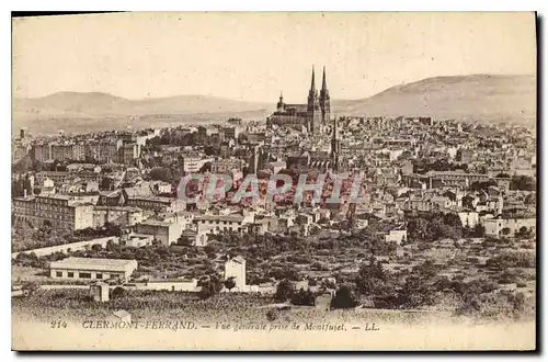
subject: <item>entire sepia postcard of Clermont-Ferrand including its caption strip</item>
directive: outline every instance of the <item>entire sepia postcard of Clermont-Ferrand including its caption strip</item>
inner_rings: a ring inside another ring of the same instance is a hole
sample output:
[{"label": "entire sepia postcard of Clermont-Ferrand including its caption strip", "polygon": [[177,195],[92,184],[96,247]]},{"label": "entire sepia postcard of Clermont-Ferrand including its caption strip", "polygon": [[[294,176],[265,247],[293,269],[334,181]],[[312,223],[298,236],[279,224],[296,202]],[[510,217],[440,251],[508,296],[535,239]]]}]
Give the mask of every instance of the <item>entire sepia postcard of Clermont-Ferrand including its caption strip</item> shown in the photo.
[{"label": "entire sepia postcard of Clermont-Ferrand including its caption strip", "polygon": [[12,350],[537,350],[535,12],[11,23]]}]

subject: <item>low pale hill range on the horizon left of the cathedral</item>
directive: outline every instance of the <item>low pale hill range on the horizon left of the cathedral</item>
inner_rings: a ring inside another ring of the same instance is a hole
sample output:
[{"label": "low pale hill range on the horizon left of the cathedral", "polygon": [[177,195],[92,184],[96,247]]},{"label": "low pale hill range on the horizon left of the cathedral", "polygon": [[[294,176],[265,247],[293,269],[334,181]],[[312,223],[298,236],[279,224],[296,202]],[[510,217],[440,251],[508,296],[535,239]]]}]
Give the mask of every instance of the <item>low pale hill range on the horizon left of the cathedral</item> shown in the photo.
[{"label": "low pale hill range on the horizon left of the cathedral", "polygon": [[88,133],[127,127],[168,127],[226,121],[230,117],[263,120],[272,104],[232,101],[210,95],[176,95],[128,100],[109,93],[57,92],[13,100],[12,132],[28,127],[33,134],[52,135],[59,129]]}]

